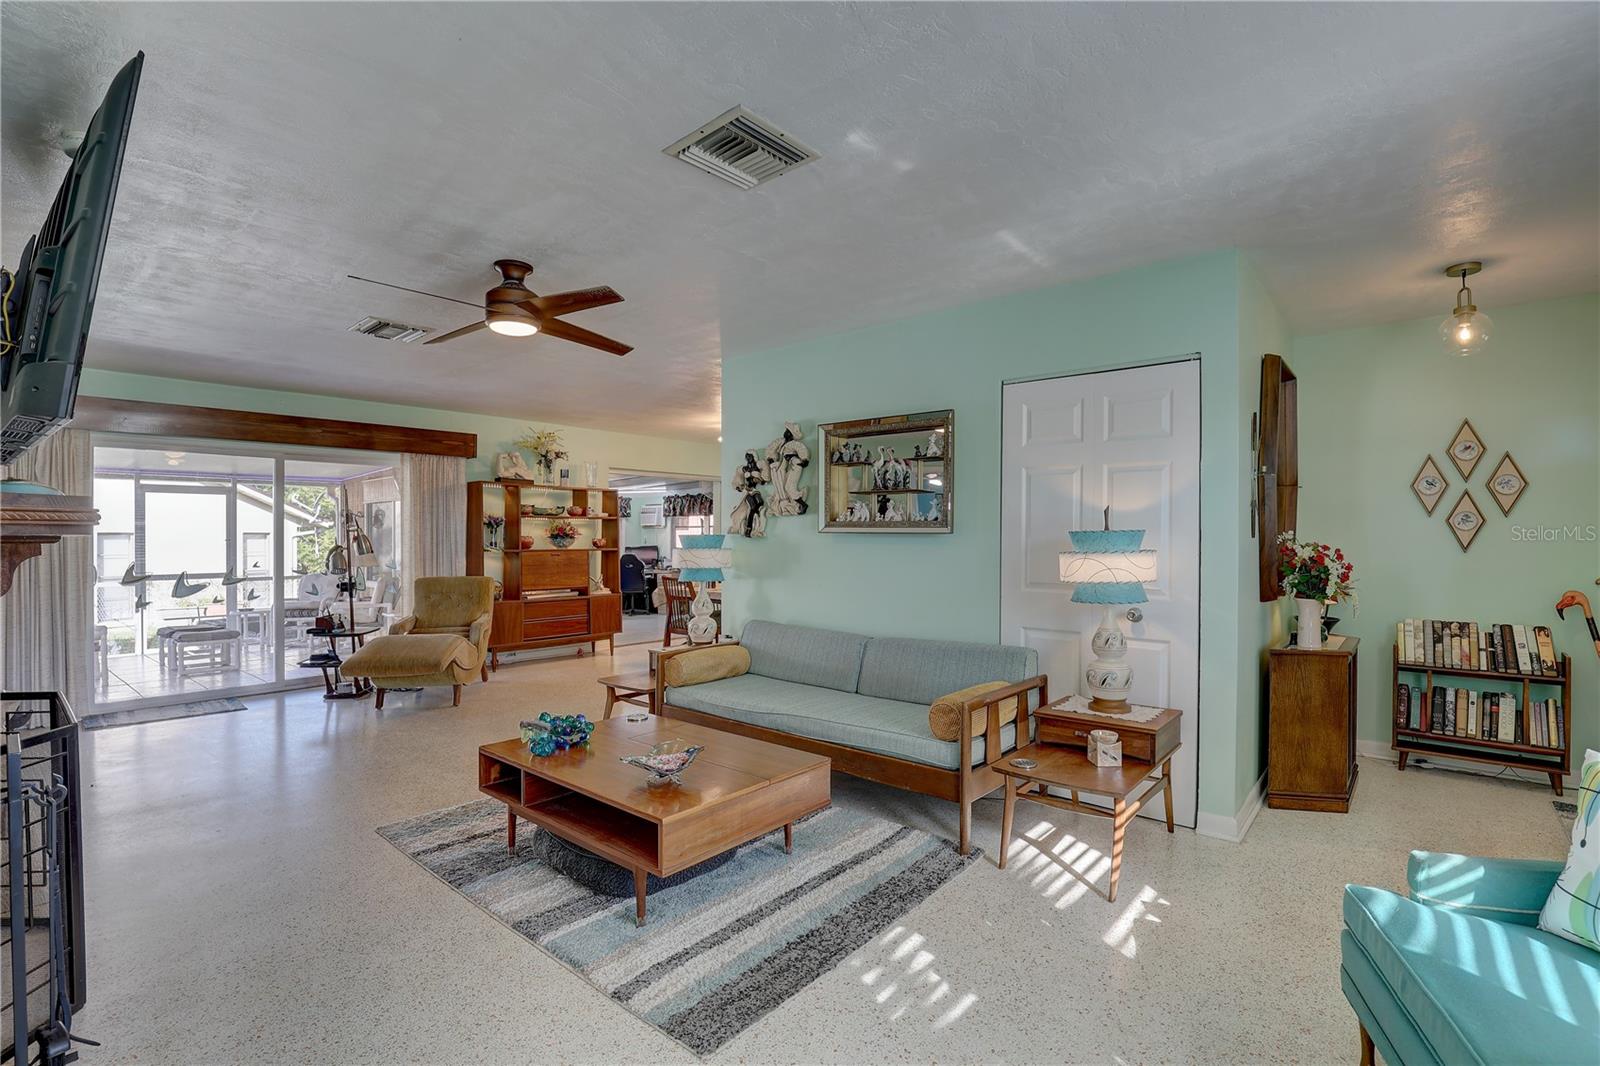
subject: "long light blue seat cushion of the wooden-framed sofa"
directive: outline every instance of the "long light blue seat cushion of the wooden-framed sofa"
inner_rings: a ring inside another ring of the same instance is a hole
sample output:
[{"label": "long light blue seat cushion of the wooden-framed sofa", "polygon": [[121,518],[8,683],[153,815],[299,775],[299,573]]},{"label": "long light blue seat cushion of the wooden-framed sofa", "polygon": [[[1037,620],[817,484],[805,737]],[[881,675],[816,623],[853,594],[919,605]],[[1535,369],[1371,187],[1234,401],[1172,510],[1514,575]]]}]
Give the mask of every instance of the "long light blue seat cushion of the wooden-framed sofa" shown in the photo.
[{"label": "long light blue seat cushion of the wooden-framed sofa", "polygon": [[[816,688],[757,674],[669,688],[666,703],[944,770],[955,770],[962,762],[960,744],[934,739],[928,730],[928,707],[917,703]],[[1002,746],[1010,747],[1014,736],[1014,725],[1002,728]],[[979,736],[973,739],[973,765],[982,759],[984,739]]]}]

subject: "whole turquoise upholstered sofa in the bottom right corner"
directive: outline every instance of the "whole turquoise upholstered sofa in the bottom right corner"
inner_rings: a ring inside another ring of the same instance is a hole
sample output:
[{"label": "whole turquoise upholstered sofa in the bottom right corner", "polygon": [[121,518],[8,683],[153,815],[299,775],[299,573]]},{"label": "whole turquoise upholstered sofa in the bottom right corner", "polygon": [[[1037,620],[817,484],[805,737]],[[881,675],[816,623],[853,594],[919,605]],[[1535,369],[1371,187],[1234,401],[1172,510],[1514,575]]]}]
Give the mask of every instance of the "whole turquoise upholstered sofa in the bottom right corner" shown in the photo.
[{"label": "whole turquoise upholstered sofa in the bottom right corner", "polygon": [[1362,1061],[1600,1063],[1600,952],[1536,927],[1560,872],[1411,852],[1410,898],[1347,885],[1339,981]]}]

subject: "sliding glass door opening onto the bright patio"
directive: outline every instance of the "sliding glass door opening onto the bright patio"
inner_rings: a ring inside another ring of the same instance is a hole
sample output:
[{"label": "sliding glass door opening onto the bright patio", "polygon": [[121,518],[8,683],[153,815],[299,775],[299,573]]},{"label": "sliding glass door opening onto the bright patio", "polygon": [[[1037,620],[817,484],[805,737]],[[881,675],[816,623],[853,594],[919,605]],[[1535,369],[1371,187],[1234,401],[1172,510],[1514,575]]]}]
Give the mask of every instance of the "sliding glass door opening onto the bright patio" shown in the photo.
[{"label": "sliding glass door opening onto the bright patio", "polygon": [[[96,435],[96,703],[146,706],[320,683],[307,629],[384,624],[398,594],[395,456],[246,451]],[[342,507],[381,515],[378,567],[328,573]],[[344,648],[347,651],[347,647]]]}]

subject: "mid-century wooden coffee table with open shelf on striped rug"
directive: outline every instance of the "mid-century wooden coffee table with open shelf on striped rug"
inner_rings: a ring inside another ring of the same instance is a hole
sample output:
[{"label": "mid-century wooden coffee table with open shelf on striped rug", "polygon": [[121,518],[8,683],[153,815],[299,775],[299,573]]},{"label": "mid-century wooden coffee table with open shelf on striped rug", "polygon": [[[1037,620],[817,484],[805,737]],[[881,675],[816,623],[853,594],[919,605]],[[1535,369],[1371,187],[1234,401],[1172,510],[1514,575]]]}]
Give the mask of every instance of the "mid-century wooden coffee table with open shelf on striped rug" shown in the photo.
[{"label": "mid-century wooden coffee table with open shelf on striped rug", "polygon": [[[706,751],[683,784],[648,787],[645,771],[621,762],[680,739]],[[829,760],[792,747],[651,715],[595,723],[587,747],[544,759],[520,739],[478,747],[478,791],[506,804],[506,845],[517,820],[634,871],[637,920],[645,924],[650,874],[667,877],[784,829],[829,804]]]}]

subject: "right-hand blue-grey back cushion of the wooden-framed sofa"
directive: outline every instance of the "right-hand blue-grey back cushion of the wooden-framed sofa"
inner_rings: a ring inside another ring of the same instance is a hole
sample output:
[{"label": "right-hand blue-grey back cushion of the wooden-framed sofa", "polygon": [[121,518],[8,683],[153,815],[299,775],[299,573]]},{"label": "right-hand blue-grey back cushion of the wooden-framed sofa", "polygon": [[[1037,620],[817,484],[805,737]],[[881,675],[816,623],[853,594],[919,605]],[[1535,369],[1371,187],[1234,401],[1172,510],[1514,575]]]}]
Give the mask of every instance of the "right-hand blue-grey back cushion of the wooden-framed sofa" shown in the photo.
[{"label": "right-hand blue-grey back cushion of the wooden-framed sofa", "polygon": [[862,696],[931,704],[968,685],[1018,682],[1038,672],[1038,651],[1003,643],[874,637],[861,659]]}]

